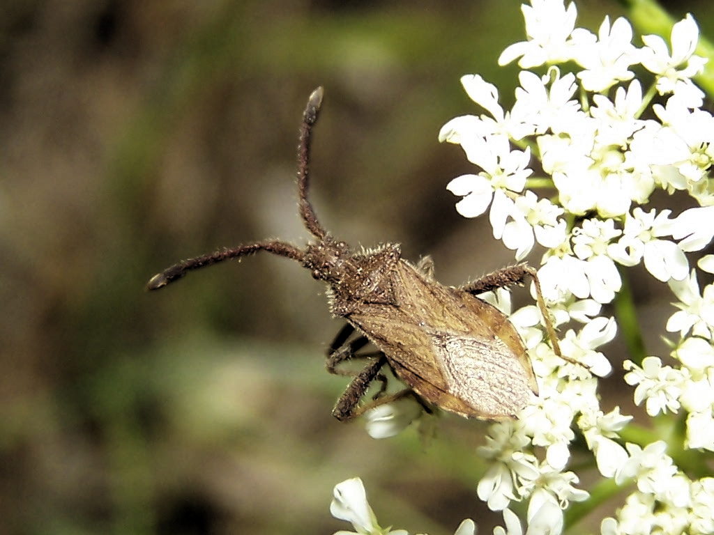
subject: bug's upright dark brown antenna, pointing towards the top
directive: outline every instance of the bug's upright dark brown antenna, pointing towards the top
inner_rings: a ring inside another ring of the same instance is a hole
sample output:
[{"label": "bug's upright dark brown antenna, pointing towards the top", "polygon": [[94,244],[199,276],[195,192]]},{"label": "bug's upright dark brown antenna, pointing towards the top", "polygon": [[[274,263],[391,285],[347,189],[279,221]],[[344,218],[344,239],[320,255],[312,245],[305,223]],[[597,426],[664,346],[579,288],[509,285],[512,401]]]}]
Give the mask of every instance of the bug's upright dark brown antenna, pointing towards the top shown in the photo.
[{"label": "bug's upright dark brown antenna, pointing towards the top", "polygon": [[305,222],[306,228],[318,240],[323,240],[327,231],[318,222],[315,209],[308,200],[308,187],[310,185],[310,146],[312,143],[312,129],[317,122],[320,106],[322,105],[323,88],[318,87],[310,94],[308,105],[303,112],[303,123],[300,126],[300,143],[298,144],[298,208]]}]

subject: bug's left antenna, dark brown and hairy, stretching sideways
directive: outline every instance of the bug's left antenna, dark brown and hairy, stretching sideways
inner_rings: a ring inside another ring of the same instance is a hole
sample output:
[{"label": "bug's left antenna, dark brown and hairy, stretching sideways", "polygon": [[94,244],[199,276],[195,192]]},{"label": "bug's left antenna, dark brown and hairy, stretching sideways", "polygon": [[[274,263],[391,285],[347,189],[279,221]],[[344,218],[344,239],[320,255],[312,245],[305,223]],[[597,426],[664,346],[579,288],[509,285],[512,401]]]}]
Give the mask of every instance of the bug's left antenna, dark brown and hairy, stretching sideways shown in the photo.
[{"label": "bug's left antenna, dark brown and hairy, stretching sideways", "polygon": [[258,251],[267,251],[268,253],[273,253],[273,255],[285,256],[287,258],[292,258],[293,260],[298,260],[298,262],[302,262],[303,257],[305,256],[305,253],[296,248],[295,245],[277,240],[251,243],[232,249],[223,248],[213,251],[213,253],[208,253],[207,255],[188,258],[188,260],[181,260],[181,262],[178,262],[171,267],[167,267],[164,271],[157,273],[154,277],[149,279],[149,282],[146,283],[146,289],[159,290],[159,288],[163,288],[169,284],[169,282],[174,282],[174,280],[180,279],[191,270],[197,270],[200,267],[217,264],[219,262],[223,262],[223,260],[231,260],[232,258],[241,258],[241,256],[253,255]]}]

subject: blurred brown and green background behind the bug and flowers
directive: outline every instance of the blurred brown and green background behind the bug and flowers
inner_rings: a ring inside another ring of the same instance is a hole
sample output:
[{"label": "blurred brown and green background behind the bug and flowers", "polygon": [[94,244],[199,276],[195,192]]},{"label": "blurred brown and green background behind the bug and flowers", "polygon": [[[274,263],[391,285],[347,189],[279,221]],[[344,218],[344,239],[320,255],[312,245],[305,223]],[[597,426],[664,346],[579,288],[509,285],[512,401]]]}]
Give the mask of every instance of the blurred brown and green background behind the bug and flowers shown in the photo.
[{"label": "blurred brown and green background behind the bug and flowers", "polygon": [[[222,245],[305,243],[295,148],[320,84],[312,199],[334,235],[431,254],[452,285],[511,263],[486,218],[453,209],[445,186],[471,166],[436,136],[478,111],[462,74],[512,98],[518,68],[496,59],[523,39],[519,6],[1,3],[0,534],[330,534],[348,527],[328,513],[333,485],[356,475],[383,524],[500,522],[476,499],[485,424],[445,417],[423,444],[330,416],[341,322],[296,263],[144,283]],[[706,31],[707,1],[668,7]],[[581,1],[578,24],[623,9]],[[642,278],[661,326],[670,295]]]}]

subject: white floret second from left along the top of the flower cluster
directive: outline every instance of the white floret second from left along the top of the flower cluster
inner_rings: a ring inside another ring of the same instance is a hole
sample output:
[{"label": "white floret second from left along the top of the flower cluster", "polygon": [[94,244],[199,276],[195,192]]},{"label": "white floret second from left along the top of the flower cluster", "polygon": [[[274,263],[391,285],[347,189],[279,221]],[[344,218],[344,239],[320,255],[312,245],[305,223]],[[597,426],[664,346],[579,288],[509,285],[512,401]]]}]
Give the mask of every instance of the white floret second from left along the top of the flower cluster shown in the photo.
[{"label": "white floret second from left along the top of the flower cluster", "polygon": [[632,26],[619,17],[610,28],[610,17],[605,16],[598,31],[598,42],[583,46],[578,51],[577,61],[585,68],[578,73],[583,88],[588,91],[605,91],[618,81],[635,76],[630,65],[638,62],[632,45]]}]

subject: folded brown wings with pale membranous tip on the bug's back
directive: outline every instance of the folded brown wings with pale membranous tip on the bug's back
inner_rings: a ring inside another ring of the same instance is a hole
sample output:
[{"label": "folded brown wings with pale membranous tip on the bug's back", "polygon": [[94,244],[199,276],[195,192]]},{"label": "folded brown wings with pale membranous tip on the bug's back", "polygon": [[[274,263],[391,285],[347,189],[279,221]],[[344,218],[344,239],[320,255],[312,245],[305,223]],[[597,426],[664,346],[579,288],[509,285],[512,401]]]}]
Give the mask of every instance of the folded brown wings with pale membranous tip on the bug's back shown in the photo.
[{"label": "folded brown wings with pale membranous tip on the bug's back", "polygon": [[401,261],[393,305],[365,303],[348,320],[428,402],[466,417],[513,417],[538,393],[508,317],[473,295],[428,282]]}]

